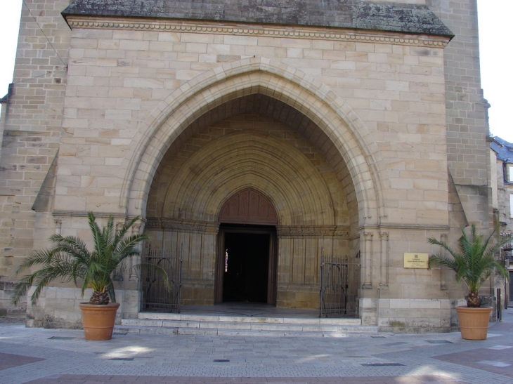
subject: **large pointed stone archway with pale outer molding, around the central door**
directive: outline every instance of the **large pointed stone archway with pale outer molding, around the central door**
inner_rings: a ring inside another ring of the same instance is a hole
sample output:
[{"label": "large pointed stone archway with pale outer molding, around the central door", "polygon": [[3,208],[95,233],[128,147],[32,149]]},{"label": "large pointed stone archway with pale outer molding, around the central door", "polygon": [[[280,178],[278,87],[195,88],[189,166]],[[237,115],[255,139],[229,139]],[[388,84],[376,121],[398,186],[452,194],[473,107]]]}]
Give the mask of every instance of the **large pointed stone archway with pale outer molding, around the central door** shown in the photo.
[{"label": "large pointed stone archway with pale outer molding, around the central door", "polygon": [[[235,190],[265,191],[280,223],[276,303],[318,308],[321,251],[355,258],[365,228],[387,217],[375,154],[328,87],[280,62],[240,60],[188,81],[140,125],[120,204],[148,232],[164,229],[164,248],[185,242],[183,303],[212,304],[221,206]],[[362,261],[371,286],[372,248]]]}]

